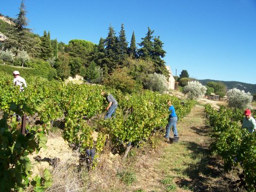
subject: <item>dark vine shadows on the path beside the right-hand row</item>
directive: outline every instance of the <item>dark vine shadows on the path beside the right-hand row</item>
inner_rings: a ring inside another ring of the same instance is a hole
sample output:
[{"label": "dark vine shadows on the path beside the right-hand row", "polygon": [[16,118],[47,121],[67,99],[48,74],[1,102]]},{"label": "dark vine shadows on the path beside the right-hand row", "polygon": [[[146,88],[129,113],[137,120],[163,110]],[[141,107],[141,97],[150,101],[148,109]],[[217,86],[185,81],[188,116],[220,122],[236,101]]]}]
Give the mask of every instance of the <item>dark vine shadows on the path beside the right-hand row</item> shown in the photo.
[{"label": "dark vine shadows on the path beside the right-hand row", "polygon": [[[206,137],[209,133],[209,126],[191,127],[198,137]],[[195,159],[193,163],[187,164],[187,169],[183,171],[189,180],[180,179],[177,185],[188,187],[192,191],[226,191],[226,185],[223,185],[223,166],[219,159],[211,156],[209,145],[204,146],[196,142],[183,142],[189,151],[192,151],[191,158]],[[195,163],[197,162],[197,163]]]}]

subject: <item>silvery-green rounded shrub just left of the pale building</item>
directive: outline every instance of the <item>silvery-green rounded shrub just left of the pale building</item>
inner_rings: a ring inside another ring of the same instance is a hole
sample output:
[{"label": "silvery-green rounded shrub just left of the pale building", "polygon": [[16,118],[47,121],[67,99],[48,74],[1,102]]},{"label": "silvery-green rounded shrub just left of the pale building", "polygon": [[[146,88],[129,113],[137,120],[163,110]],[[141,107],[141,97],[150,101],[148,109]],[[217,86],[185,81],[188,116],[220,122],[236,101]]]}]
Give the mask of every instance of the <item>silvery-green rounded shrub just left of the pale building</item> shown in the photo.
[{"label": "silvery-green rounded shrub just left of the pale building", "polygon": [[159,93],[164,93],[168,90],[166,77],[162,74],[149,74],[144,85],[146,89]]}]

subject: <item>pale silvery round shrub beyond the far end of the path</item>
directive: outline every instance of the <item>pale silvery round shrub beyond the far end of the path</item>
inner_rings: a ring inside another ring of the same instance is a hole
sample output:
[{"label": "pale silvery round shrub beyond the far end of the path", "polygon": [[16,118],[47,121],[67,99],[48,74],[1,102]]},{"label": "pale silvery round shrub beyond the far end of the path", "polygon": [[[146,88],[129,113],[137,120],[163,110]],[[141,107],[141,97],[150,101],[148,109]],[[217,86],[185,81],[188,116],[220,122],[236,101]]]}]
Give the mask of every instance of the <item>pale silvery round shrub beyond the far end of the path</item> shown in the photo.
[{"label": "pale silvery round shrub beyond the far end of the path", "polygon": [[183,93],[187,94],[189,99],[202,98],[206,93],[206,87],[197,81],[188,82],[184,87]]}]

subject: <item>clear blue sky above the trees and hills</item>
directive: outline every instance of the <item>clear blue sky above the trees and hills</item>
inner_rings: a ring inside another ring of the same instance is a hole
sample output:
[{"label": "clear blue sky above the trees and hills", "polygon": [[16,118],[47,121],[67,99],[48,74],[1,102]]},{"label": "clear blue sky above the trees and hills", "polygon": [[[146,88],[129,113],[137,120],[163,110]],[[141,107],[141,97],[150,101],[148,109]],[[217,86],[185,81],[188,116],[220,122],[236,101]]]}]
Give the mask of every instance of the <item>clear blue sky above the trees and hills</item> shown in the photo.
[{"label": "clear blue sky above the trees and hills", "polygon": [[[17,18],[21,0],[1,0],[0,13]],[[26,0],[28,28],[68,44],[116,35],[122,23],[127,42],[148,27],[160,36],[173,75],[256,84],[256,0]],[[139,48],[139,46],[138,46]]]}]

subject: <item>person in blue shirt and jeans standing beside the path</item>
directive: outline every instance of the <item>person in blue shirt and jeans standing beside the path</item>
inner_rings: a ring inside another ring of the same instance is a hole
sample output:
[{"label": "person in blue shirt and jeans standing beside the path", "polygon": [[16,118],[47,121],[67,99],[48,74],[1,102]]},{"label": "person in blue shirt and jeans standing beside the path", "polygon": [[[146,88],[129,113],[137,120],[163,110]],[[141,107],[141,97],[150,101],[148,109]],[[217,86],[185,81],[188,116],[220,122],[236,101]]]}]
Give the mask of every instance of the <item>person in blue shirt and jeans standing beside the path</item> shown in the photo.
[{"label": "person in blue shirt and jeans standing beside the path", "polygon": [[169,140],[171,127],[172,127],[172,131],[174,134],[174,138],[179,138],[178,131],[177,131],[178,116],[175,113],[175,109],[174,109],[171,101],[168,101],[168,106],[169,106],[169,111],[171,111],[171,114],[169,115],[168,124],[166,125],[166,132],[165,132],[165,136],[164,136],[164,138],[166,140]]}]

